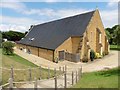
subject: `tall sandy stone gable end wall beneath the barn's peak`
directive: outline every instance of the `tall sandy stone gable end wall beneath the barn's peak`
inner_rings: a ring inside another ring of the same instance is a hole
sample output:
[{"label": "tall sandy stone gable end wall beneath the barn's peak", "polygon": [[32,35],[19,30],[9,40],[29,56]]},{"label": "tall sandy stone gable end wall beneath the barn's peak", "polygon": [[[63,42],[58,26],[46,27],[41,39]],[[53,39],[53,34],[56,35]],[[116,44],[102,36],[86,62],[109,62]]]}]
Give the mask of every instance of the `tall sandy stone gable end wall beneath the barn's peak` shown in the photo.
[{"label": "tall sandy stone gable end wall beneath the barn's peak", "polygon": [[[95,52],[98,52],[99,53],[99,47],[100,47],[100,44],[98,42],[98,31],[97,29],[100,30],[101,32],[101,44],[102,44],[102,47],[103,47],[103,52],[105,52],[105,37],[106,37],[106,34],[105,34],[105,30],[104,30],[104,26],[103,26],[103,23],[101,21],[101,18],[100,18],[100,14],[99,14],[99,11],[96,10],[96,12],[94,13],[93,17],[92,17],[92,20],[91,22],[89,23],[89,26],[87,27],[87,32],[88,32],[88,38],[90,39],[90,46],[92,49],[94,49]],[[93,35],[91,35],[91,32]]]}]

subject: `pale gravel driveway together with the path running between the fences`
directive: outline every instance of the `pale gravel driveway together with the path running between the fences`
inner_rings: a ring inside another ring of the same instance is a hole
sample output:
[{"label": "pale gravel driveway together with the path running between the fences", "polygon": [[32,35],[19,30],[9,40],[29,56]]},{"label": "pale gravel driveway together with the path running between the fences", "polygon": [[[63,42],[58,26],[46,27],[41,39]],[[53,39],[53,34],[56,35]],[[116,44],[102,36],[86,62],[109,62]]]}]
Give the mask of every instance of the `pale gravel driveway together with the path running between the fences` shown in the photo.
[{"label": "pale gravel driveway together with the path running between the fences", "polygon": [[[103,69],[109,69],[109,68],[114,68],[118,67],[118,51],[111,51],[109,55],[105,56],[102,59],[96,59],[93,62],[88,62],[88,63],[73,63],[69,61],[61,61],[59,63],[53,63],[51,61],[48,61],[46,59],[37,57],[35,55],[27,54],[24,53],[18,49],[15,49],[15,53],[22,56],[23,58],[33,62],[34,64],[38,66],[42,66],[45,68],[50,67],[51,69],[57,68],[59,69],[59,66],[64,66],[67,65],[67,86],[71,86],[71,72],[78,70],[82,66],[83,71],[82,72],[92,72],[92,71],[98,71],[98,70],[103,70]],[[120,53],[120,52],[119,52]],[[58,78],[58,83],[59,87],[64,87],[64,76],[60,76]],[[43,80],[43,81],[38,81],[38,87],[40,88],[54,88],[54,79],[49,79],[49,80]],[[22,88],[32,88],[34,87],[34,84],[24,84]]]}]

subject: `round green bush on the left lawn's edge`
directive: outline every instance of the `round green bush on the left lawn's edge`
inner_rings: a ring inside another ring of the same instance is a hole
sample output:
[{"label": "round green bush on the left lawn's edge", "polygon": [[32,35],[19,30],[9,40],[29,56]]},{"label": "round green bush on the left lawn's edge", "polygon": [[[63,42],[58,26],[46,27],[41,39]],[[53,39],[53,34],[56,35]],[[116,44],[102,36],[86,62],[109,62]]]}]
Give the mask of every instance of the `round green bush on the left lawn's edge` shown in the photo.
[{"label": "round green bush on the left lawn's edge", "polygon": [[10,55],[10,54],[13,54],[13,47],[15,46],[15,44],[14,43],[12,43],[12,42],[9,42],[9,41],[7,41],[7,42],[3,42],[2,43],[2,47],[3,47],[3,52],[5,53],[5,54],[7,54],[7,55]]}]

